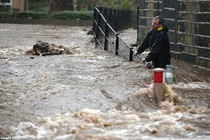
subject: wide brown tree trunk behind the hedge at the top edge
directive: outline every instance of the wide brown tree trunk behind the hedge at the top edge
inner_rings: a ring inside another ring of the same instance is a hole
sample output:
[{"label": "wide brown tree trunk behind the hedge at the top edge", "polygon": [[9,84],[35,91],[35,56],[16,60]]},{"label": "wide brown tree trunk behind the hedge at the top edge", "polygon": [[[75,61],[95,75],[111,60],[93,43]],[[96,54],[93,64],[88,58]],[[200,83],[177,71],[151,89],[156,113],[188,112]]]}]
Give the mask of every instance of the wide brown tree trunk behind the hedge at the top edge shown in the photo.
[{"label": "wide brown tree trunk behind the hedge at the top edge", "polygon": [[49,14],[65,10],[67,0],[49,0]]}]

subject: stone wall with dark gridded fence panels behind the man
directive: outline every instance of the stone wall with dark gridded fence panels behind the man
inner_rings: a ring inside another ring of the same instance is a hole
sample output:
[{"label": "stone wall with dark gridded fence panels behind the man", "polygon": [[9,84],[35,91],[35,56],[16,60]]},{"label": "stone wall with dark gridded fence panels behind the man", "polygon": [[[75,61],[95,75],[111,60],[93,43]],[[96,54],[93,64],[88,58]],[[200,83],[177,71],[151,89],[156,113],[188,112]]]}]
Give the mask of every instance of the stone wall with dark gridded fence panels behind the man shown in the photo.
[{"label": "stone wall with dark gridded fence panels behind the man", "polygon": [[156,15],[169,27],[171,55],[175,59],[210,68],[209,0],[141,0],[137,40],[141,42]]}]

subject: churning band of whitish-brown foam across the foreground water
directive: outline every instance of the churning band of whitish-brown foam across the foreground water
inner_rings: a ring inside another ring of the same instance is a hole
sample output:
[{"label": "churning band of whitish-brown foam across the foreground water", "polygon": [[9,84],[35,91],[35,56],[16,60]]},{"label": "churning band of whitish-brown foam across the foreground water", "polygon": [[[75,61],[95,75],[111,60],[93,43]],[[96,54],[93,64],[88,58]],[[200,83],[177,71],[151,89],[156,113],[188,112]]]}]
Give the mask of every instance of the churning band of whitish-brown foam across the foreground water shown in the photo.
[{"label": "churning band of whitish-brown foam across the foreground water", "polygon": [[[145,118],[145,115],[148,118]],[[193,139],[197,138],[196,127],[180,120],[183,117],[192,119],[199,116],[199,114],[186,112],[166,113],[165,110],[148,112],[142,115],[137,112],[116,110],[101,112],[100,110],[86,108],[74,113],[39,118],[35,124],[22,122],[18,126],[13,127],[12,130],[14,139],[65,139],[78,134],[87,139],[137,139],[140,137],[146,138],[147,136],[165,139],[175,134]],[[186,127],[192,128],[187,130]],[[155,134],[160,134],[160,136]]]}]

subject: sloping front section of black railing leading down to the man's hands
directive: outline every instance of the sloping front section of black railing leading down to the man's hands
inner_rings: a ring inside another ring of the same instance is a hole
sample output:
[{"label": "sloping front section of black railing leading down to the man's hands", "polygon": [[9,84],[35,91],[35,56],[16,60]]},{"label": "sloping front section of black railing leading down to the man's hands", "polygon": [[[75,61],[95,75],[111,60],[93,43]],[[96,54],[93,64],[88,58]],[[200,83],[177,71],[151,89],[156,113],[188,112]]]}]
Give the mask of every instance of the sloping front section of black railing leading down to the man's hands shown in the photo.
[{"label": "sloping front section of black railing leading down to the man's hands", "polygon": [[[124,12],[125,13],[125,12]],[[123,22],[121,25],[125,25]],[[127,22],[127,21],[125,21]],[[112,26],[115,26],[112,22]],[[120,55],[129,61],[139,61],[140,57],[133,57],[133,48],[128,46],[120,37],[119,34],[112,28],[107,19],[102,14],[99,8],[94,8],[93,18],[93,33],[95,38],[95,46],[102,47],[104,50]],[[120,27],[118,27],[119,29]]]}]

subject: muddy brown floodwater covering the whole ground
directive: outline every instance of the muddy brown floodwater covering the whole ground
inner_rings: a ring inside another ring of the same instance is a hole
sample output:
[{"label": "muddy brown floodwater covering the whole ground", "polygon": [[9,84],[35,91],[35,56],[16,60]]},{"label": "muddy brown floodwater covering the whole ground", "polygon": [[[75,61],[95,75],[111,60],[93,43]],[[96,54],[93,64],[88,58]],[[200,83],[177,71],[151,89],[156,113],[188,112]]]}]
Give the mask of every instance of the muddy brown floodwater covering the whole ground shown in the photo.
[{"label": "muddy brown floodwater covering the whole ground", "polygon": [[[0,24],[0,139],[210,139],[209,70],[173,60],[158,105],[153,71],[95,48],[89,29]],[[37,40],[72,54],[26,55]]]}]

